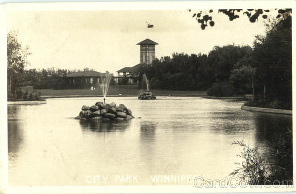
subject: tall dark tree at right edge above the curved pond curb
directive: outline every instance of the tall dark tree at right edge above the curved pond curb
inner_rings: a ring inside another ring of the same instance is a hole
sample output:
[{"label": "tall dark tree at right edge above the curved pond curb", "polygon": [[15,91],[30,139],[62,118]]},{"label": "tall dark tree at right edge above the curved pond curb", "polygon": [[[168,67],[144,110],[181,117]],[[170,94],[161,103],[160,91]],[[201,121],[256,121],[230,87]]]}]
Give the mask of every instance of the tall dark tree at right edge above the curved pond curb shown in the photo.
[{"label": "tall dark tree at right edge above the curved pond curb", "polygon": [[253,66],[256,68],[257,93],[263,102],[282,102],[292,108],[292,17],[274,22],[266,36],[254,42]]}]

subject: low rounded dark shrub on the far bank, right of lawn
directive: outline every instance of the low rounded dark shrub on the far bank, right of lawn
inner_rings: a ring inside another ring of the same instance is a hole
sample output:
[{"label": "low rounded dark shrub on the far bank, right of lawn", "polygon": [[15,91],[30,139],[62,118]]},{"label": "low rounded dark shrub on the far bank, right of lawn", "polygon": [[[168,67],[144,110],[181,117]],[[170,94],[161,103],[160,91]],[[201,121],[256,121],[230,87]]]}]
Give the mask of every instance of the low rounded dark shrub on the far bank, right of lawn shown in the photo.
[{"label": "low rounded dark shrub on the far bank, right of lawn", "polygon": [[233,96],[234,94],[234,87],[232,86],[232,83],[229,82],[214,83],[207,91],[207,95],[217,97]]}]

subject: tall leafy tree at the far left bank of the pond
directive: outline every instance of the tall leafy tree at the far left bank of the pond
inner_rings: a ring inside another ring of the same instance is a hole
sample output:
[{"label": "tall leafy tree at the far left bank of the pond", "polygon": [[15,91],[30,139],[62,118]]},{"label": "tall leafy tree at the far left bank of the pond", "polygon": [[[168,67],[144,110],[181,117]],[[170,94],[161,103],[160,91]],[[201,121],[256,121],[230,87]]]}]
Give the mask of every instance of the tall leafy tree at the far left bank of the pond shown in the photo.
[{"label": "tall leafy tree at the far left bank of the pond", "polygon": [[29,47],[23,47],[18,40],[17,31],[7,33],[7,94],[16,96],[17,87],[24,80],[24,68],[29,64]]}]

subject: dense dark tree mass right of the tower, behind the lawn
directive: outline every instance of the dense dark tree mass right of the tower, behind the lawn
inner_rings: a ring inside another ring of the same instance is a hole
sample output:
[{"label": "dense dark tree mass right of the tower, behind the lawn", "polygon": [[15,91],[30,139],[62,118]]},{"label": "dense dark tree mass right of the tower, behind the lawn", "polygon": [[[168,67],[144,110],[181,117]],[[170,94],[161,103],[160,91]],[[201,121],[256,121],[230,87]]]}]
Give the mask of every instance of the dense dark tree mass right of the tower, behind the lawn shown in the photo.
[{"label": "dense dark tree mass right of the tower, behind the lawn", "polygon": [[[153,81],[149,84],[151,89],[206,90],[213,83],[229,82],[232,71],[236,68],[235,64],[247,57],[251,51],[249,46],[227,45],[214,47],[209,55],[174,53],[172,58],[156,58],[152,66],[144,67],[142,72]],[[235,78],[238,83],[240,78]],[[141,81],[142,79],[140,84]],[[245,87],[242,87],[240,92],[247,93],[250,90],[244,89]],[[229,95],[229,92],[226,93]]]}]

